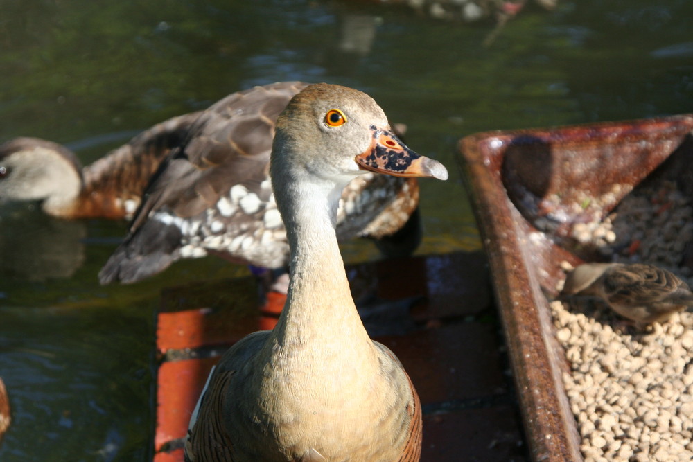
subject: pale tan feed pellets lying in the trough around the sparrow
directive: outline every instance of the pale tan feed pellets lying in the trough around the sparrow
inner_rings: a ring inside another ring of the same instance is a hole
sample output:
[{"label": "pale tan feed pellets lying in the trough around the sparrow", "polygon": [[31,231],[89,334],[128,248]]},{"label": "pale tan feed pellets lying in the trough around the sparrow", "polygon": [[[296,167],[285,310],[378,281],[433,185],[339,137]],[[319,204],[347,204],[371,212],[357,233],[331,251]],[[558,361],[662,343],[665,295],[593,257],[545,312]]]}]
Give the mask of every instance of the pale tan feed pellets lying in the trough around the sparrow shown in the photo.
[{"label": "pale tan feed pellets lying in the trough around the sparrow", "polygon": [[[633,191],[576,233],[614,261],[654,263],[692,282],[679,266],[693,238],[692,209],[672,183]],[[693,313],[637,330],[601,301],[550,306],[586,462],[693,461]]]}]

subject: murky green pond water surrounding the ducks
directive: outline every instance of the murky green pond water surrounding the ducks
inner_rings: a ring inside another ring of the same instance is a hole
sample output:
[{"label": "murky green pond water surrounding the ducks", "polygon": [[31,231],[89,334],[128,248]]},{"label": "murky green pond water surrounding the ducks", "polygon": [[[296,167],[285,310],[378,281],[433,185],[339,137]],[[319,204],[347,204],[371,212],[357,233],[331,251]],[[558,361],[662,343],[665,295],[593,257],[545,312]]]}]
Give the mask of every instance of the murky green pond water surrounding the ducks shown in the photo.
[{"label": "murky green pond water surrounding the ducks", "polygon": [[[422,181],[419,253],[430,254],[480,247],[455,164],[460,137],[693,112],[690,0],[559,0],[553,12],[532,3],[488,48],[492,21],[347,3],[0,0],[0,142],[38,136],[89,163],[252,85],[349,85],[453,173]],[[159,291],[247,270],[207,258],[100,287],[125,226],[0,206],[0,376],[14,407],[1,461],[151,459]],[[344,254],[378,256],[367,242]]]}]

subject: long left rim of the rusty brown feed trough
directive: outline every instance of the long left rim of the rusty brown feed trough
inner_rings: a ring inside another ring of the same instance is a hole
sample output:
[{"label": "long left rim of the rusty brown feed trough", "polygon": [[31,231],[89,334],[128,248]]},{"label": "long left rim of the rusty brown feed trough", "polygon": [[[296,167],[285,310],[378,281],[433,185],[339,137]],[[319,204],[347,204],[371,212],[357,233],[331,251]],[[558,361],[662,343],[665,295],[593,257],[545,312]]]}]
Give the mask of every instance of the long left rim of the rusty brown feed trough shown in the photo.
[{"label": "long left rim of the rusty brown feed trough", "polygon": [[[519,230],[507,205],[509,200],[502,194],[505,189],[500,178],[494,179],[484,166],[479,149],[480,141],[490,135],[475,134],[460,140],[459,165],[477,221],[482,224],[479,228],[491,271],[504,274],[507,281],[505,286],[494,284],[494,290],[529,452],[537,462],[580,462],[584,460],[580,438],[561,379],[546,299],[534,275],[525,268]],[[505,137],[502,132],[498,135]],[[486,194],[482,195],[481,191]],[[502,233],[500,229],[507,232]],[[516,299],[522,303],[516,303]]]}]

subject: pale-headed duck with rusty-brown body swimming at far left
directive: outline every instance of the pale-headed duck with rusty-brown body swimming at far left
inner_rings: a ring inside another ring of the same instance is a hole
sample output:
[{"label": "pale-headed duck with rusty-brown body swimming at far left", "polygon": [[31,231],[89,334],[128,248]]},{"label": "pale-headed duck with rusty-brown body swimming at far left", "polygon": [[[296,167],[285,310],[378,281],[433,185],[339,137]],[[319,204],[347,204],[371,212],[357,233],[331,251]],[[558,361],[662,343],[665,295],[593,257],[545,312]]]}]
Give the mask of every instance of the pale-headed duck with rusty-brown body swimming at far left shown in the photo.
[{"label": "pale-headed duck with rusty-brown body swimming at far left", "polygon": [[7,141],[0,145],[0,199],[41,200],[45,213],[60,218],[131,217],[159,163],[199,114],[159,123],[85,168],[52,141]]}]

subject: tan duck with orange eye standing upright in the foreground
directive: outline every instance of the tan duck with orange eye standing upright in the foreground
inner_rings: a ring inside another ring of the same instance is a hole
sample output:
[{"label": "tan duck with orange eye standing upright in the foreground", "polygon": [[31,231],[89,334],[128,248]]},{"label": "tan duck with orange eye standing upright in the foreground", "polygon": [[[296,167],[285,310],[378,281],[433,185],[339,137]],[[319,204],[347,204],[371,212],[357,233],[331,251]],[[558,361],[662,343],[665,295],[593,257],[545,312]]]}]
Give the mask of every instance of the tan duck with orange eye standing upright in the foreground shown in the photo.
[{"label": "tan duck with orange eye standing upright in the foreground", "polygon": [[337,243],[340,193],[365,172],[448,178],[361,91],[320,83],[292,98],[270,168],[290,247],[286,305],[274,329],[244,337],[211,371],[186,461],[419,460],[419,397],[394,353],[367,335]]}]

